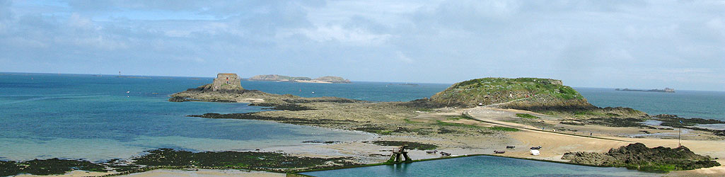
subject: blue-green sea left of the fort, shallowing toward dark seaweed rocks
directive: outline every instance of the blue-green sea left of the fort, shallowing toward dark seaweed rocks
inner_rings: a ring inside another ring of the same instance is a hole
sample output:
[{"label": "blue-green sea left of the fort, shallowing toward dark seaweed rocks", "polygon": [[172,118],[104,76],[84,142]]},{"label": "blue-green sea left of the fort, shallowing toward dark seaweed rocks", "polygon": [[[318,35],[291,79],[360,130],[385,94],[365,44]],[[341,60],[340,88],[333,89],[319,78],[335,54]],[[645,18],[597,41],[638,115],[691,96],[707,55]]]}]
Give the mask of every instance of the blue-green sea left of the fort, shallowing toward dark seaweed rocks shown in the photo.
[{"label": "blue-green sea left of the fort, shallowing toward dark seaweed rocks", "polygon": [[158,148],[249,150],[373,136],[271,121],[189,118],[186,115],[256,112],[262,107],[167,102],[167,95],[211,80],[0,75],[0,159],[60,157],[100,161],[128,158]]}]

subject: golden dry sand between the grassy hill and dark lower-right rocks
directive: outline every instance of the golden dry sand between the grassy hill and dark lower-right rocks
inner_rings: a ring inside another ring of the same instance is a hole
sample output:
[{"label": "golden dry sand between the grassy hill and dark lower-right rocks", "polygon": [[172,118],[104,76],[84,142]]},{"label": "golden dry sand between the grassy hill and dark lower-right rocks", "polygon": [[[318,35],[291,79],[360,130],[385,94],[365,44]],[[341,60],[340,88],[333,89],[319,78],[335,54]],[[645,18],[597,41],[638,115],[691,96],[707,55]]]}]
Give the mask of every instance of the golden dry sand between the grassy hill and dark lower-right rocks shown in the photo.
[{"label": "golden dry sand between the grassy hill and dark lower-right rocks", "polygon": [[[623,138],[618,136],[581,136],[568,133],[542,131],[531,125],[498,121],[501,116],[515,115],[524,112],[519,110],[502,110],[489,107],[476,107],[463,110],[463,114],[470,116],[483,123],[491,125],[518,128],[521,131],[510,133],[510,138],[518,141],[516,149],[508,149],[503,154],[508,157],[523,157],[540,160],[561,160],[566,152],[608,152],[611,148],[626,146],[634,142],[640,142],[647,147],[677,147],[677,139],[645,139],[645,138]],[[528,113],[528,112],[527,112]],[[601,128],[600,131],[616,131],[621,128]],[[682,144],[699,155],[710,155],[718,157],[717,162],[725,165],[725,141],[708,140],[682,140]],[[502,145],[503,146],[503,145]],[[529,153],[529,147],[541,146],[541,155],[534,156]],[[502,148],[503,150],[503,148]],[[725,176],[725,166],[713,168],[701,168],[696,170],[674,171],[666,176]]]}]

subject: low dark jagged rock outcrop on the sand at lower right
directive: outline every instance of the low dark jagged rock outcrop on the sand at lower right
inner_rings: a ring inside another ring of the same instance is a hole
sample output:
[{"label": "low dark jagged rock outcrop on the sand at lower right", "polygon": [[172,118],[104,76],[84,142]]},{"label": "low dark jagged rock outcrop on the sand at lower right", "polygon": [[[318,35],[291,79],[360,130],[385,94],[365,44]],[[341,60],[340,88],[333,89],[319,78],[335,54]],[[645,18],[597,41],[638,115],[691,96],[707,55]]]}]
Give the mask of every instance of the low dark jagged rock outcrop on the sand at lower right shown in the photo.
[{"label": "low dark jagged rock outcrop on the sand at lower right", "polygon": [[610,149],[607,153],[567,152],[561,158],[579,164],[626,167],[645,171],[692,170],[720,165],[711,157],[696,155],[687,147],[647,148],[641,143]]}]

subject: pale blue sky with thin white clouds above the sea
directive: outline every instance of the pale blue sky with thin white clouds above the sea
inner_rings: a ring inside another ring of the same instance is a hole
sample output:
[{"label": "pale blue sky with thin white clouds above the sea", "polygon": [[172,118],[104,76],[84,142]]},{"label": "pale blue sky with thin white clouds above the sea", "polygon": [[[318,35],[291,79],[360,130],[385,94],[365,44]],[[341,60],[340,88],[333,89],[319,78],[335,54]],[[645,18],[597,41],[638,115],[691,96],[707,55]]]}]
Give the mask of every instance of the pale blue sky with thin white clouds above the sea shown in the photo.
[{"label": "pale blue sky with thin white clouds above the sea", "polygon": [[0,0],[0,72],[119,71],[725,91],[725,0]]}]

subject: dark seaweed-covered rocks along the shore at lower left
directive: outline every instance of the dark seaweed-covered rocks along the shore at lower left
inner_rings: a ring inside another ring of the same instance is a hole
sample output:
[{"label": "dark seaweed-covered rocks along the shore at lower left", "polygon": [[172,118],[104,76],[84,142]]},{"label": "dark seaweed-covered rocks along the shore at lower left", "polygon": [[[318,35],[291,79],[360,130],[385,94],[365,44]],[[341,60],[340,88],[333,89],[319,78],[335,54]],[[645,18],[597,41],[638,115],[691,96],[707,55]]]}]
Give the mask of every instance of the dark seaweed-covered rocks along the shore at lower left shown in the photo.
[{"label": "dark seaweed-covered rocks along the shore at lower left", "polygon": [[317,168],[334,168],[360,165],[347,157],[298,157],[279,152],[188,152],[177,149],[155,149],[130,160],[108,160],[88,162],[87,160],[29,160],[0,161],[0,176],[18,174],[61,175],[72,170],[128,174],[159,168],[183,169],[244,169],[272,172],[293,172]]}]

